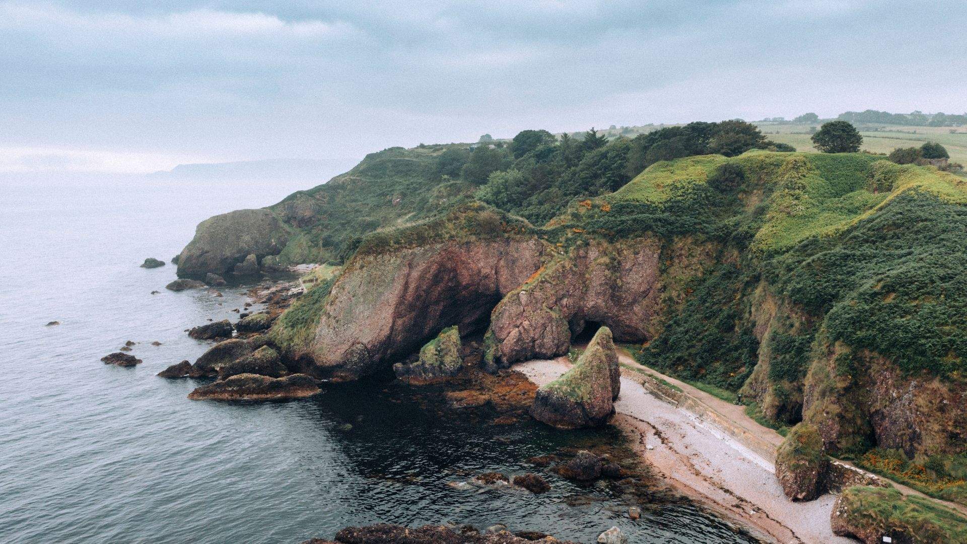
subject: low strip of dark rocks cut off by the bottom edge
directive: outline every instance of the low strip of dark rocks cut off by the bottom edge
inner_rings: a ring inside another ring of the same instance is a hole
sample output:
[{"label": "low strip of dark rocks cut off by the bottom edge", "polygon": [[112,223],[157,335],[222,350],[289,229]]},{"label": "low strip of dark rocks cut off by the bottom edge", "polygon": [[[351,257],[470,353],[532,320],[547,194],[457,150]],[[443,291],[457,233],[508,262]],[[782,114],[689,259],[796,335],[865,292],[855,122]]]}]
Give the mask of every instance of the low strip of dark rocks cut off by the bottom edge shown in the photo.
[{"label": "low strip of dark rocks cut off by the bottom edge", "polygon": [[[457,531],[444,526],[427,525],[419,529],[408,529],[402,526],[379,524],[341,529],[336,533],[335,540],[341,544],[528,544],[535,541],[516,536],[506,530],[506,526],[498,525],[504,529],[481,534],[480,531],[467,527]],[[496,526],[492,527],[496,528]],[[536,542],[573,544],[550,536]]]}]

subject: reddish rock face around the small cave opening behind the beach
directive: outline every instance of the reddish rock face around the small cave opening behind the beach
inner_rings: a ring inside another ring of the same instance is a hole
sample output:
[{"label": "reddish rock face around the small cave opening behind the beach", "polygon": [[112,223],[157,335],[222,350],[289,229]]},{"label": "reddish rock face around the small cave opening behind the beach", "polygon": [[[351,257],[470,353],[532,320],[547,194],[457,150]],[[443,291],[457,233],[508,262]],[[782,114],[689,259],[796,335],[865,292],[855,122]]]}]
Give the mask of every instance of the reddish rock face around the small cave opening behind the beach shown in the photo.
[{"label": "reddish rock face around the small cave opening behind the beach", "polygon": [[489,359],[506,367],[563,355],[589,321],[620,341],[646,340],[659,313],[659,252],[650,237],[594,242],[547,264],[494,309]]}]

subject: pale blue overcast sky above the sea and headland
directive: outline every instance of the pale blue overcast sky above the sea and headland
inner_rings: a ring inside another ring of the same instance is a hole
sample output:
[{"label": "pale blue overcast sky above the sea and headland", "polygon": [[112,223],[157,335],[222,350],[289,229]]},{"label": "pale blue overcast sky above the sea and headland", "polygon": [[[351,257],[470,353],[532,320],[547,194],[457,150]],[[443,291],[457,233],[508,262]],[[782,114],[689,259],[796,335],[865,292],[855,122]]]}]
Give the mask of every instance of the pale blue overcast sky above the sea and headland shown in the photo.
[{"label": "pale blue overcast sky above the sea and headland", "polygon": [[0,171],[963,113],[965,20],[963,0],[0,0]]}]

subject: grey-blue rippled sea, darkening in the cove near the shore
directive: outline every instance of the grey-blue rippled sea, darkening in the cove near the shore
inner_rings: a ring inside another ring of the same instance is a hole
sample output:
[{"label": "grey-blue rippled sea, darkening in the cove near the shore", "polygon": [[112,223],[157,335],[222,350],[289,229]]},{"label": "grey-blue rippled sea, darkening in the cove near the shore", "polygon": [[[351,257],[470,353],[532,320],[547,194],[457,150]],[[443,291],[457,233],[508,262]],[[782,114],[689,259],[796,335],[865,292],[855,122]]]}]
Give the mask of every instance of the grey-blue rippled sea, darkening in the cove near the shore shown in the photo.
[{"label": "grey-blue rippled sea, darkening in the cove near the shore", "polygon": [[[675,501],[644,504],[630,522],[610,484],[547,475],[554,489],[541,496],[448,484],[533,470],[526,458],[615,440],[613,430],[441,417],[394,382],[223,404],[189,401],[190,380],[156,378],[207,348],[185,328],[235,318],[245,298],[167,291],[174,266],[137,265],[170,259],[210,215],[300,184],[7,175],[0,185],[0,542],[297,543],[375,522],[499,522],[587,543],[615,525],[634,543],[752,541]],[[143,364],[99,361],[127,340]]]}]

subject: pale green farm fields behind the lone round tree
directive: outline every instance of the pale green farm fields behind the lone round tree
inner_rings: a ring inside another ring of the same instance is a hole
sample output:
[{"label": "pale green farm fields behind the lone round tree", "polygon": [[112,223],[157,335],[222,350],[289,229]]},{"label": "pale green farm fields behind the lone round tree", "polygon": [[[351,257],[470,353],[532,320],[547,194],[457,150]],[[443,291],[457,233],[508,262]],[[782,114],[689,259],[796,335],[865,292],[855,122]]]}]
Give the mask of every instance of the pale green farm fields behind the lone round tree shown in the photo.
[{"label": "pale green farm fields behind the lone round tree", "polygon": [[[757,123],[769,139],[788,143],[799,151],[815,151],[808,127]],[[967,165],[967,127],[862,126],[863,149],[873,153],[890,153],[897,147],[920,147],[925,141],[936,141],[947,148],[953,163]],[[951,134],[951,131],[956,131]]]}]

